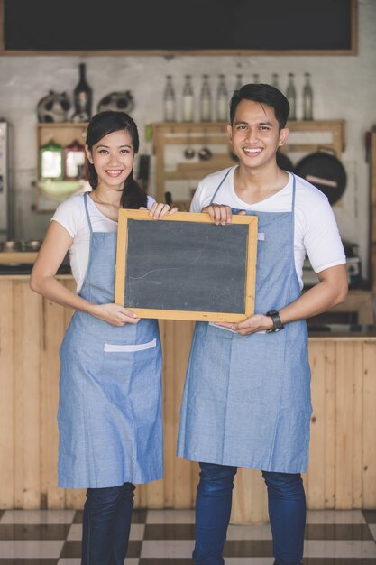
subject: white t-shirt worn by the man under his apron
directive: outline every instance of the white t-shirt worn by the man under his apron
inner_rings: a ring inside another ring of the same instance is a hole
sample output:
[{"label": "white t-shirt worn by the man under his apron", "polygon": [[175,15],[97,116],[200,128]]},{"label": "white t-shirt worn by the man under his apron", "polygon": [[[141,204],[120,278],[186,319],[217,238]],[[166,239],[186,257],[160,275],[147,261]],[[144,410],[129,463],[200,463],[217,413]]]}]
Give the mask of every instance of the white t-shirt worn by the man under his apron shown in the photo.
[{"label": "white t-shirt worn by the man under his apron", "polygon": [[[230,169],[225,182],[218,190],[214,200],[215,204],[225,204],[232,208],[254,210],[255,212],[289,212],[291,210],[293,184],[291,173],[289,173],[289,182],[283,189],[261,202],[247,204],[236,195],[234,190],[236,167],[237,165]],[[225,169],[209,174],[198,183],[190,206],[191,212],[201,212],[202,208],[210,204],[227,171],[228,169]],[[337,264],[346,263],[346,257],[335,215],[326,195],[305,179],[296,175],[295,178],[294,257],[300,288],[303,288],[302,273],[306,254],[316,273]]]}]

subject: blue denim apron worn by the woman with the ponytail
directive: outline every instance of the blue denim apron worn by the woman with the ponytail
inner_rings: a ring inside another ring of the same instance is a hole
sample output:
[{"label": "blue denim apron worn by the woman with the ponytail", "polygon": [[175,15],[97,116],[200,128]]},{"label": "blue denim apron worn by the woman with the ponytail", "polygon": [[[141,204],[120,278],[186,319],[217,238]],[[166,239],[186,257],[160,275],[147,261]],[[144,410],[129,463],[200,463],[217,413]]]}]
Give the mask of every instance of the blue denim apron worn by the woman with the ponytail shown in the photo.
[{"label": "blue denim apron worn by the woman with the ponytail", "polygon": [[[87,301],[114,301],[116,233],[93,232]],[[60,346],[59,486],[98,488],[162,477],[157,320],[118,328],[76,311]]]}]

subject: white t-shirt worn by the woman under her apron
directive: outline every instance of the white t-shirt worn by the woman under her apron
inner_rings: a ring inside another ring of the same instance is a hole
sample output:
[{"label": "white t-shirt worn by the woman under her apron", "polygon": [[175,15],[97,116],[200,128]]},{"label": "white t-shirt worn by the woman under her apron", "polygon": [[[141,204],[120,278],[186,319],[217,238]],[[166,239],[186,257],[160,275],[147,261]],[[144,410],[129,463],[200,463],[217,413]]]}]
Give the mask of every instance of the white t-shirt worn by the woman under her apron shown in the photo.
[{"label": "white t-shirt worn by the woman under her apron", "polygon": [[[153,198],[148,196],[147,208],[151,208]],[[87,209],[90,216],[91,226],[96,232],[115,232],[117,222],[107,218],[93,200],[87,196]],[[69,247],[69,262],[73,277],[77,282],[76,292],[79,292],[87,272],[89,255],[90,229],[87,224],[87,214],[83,194],[75,194],[62,202],[56,208],[50,221],[59,222],[69,236],[73,237],[73,243]]]}]

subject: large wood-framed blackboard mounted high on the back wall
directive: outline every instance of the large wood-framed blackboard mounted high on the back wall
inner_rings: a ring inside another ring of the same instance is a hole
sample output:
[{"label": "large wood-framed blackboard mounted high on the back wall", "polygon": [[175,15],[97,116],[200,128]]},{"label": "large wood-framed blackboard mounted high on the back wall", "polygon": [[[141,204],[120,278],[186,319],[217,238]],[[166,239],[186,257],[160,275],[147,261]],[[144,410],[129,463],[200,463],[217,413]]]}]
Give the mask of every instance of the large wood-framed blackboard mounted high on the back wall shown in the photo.
[{"label": "large wood-framed blackboard mounted high on the back wall", "polygon": [[106,0],[100,9],[64,0],[58,12],[50,0],[3,3],[5,51],[357,50],[358,0]]}]

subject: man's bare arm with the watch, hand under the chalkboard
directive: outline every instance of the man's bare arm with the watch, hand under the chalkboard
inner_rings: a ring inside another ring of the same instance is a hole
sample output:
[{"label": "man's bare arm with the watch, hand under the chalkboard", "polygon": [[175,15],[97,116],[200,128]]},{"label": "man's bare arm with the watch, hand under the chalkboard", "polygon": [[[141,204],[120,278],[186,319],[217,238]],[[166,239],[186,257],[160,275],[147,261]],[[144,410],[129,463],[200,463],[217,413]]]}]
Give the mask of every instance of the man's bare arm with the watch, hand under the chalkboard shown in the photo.
[{"label": "man's bare arm with the watch, hand under the chalkboard", "polygon": [[[279,314],[282,324],[311,318],[346,300],[348,283],[345,264],[329,267],[317,273],[317,277],[319,282],[314,287],[304,292],[296,301],[280,309]],[[218,322],[217,325],[234,329],[246,336],[256,331],[272,329],[273,322],[270,316],[254,314],[241,322]]]}]

